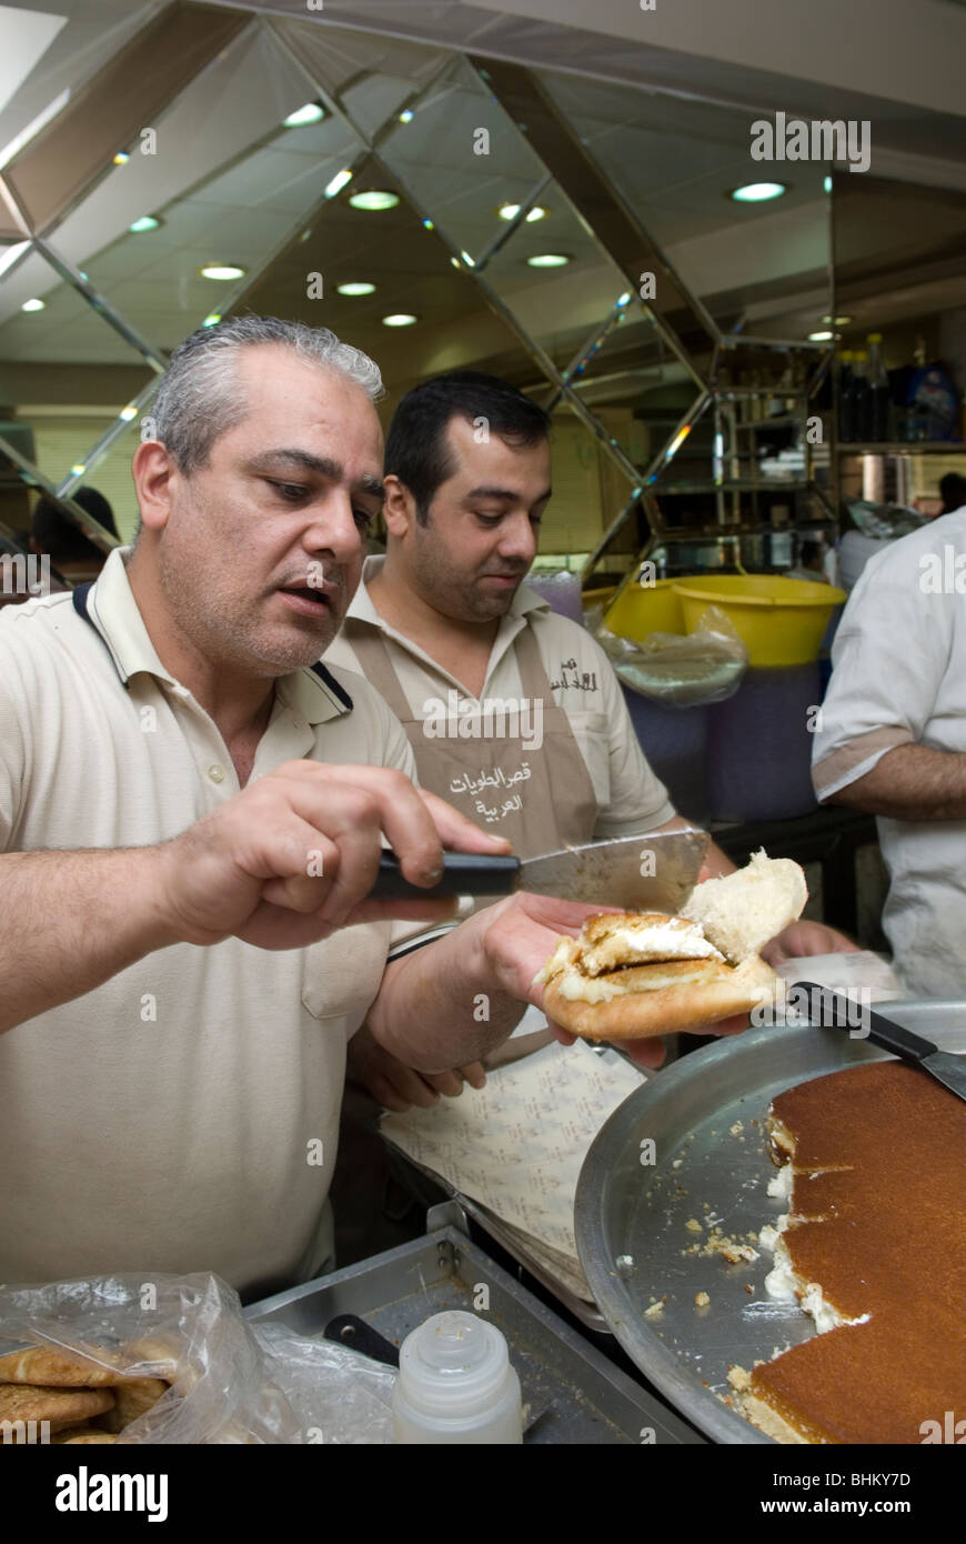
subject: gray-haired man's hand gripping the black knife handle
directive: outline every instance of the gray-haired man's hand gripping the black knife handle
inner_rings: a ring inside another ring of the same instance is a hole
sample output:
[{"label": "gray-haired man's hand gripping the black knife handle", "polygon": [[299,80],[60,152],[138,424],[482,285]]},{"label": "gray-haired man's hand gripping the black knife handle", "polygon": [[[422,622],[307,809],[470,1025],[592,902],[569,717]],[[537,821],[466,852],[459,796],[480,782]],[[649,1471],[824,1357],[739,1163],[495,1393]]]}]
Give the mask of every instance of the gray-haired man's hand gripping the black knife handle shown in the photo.
[{"label": "gray-haired man's hand gripping the black knife handle", "polygon": [[366,900],[383,832],[415,885],[438,880],[444,845],[509,849],[392,767],[287,761],[156,849],[171,934],[295,950],[360,922],[454,916],[452,900]]}]

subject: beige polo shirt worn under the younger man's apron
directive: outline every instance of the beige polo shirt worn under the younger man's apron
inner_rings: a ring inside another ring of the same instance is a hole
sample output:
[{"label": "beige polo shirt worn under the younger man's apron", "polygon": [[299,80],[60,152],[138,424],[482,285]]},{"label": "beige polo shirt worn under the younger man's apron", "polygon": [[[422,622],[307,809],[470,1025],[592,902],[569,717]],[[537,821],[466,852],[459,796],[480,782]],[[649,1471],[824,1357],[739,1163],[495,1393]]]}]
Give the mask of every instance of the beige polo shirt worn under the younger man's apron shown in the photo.
[{"label": "beige polo shirt worn under the younger man's apron", "polygon": [[[443,670],[404,633],[383,621],[377,611],[366,587],[384,560],[384,557],[366,560],[363,582],[349,607],[349,616],[358,616],[380,628],[410,712],[414,718],[423,721],[434,712],[429,706],[434,699],[448,704],[449,693],[457,692],[458,698],[466,701],[469,693],[455,676]],[[583,627],[566,616],[557,616],[548,602],[526,585],[520,585],[506,616],[500,619],[478,701],[518,699],[523,695],[512,645],[525,627],[532,628],[554,703],[568,716],[594,786],[597,797],[594,838],[630,837],[639,831],[654,831],[656,826],[673,820],[674,806],[640,750],[610,659]],[[344,633],[339,633],[326,653],[326,664],[330,662],[360,670]],[[468,740],[468,766],[472,766],[472,757],[474,741]]]}]

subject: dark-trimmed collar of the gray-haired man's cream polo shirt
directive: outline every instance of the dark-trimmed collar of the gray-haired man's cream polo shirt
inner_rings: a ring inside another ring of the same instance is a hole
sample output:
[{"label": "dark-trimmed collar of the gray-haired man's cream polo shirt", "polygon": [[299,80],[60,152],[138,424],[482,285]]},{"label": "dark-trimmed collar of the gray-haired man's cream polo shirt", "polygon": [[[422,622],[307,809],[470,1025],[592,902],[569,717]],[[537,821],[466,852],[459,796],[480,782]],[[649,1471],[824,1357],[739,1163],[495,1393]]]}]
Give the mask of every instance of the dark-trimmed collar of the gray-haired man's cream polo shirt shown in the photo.
[{"label": "dark-trimmed collar of the gray-haired man's cream polo shirt", "polygon": [[[147,672],[184,693],[181,681],[165,670],[137,608],[125,567],[130,547],[114,547],[97,582],[86,596],[86,619],[103,639],[114,669],[127,687],[131,676]],[[352,712],[352,698],[323,665],[306,665],[275,681],[276,696],[298,709],[310,724]]]}]

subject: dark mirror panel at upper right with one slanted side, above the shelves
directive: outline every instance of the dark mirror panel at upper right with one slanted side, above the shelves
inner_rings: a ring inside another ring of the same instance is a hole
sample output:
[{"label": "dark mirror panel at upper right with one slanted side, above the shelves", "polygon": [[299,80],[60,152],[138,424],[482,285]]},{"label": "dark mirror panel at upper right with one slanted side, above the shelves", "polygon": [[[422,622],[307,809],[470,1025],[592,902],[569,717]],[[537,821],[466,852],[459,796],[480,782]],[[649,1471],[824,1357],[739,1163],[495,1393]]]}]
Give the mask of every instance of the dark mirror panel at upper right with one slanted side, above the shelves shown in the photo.
[{"label": "dark mirror panel at upper right with one slanted side, above the shelves", "polygon": [[[824,161],[752,161],[745,108],[552,73],[540,80],[722,330],[806,338],[821,327],[830,310]],[[731,196],[764,182],[784,191]]]}]

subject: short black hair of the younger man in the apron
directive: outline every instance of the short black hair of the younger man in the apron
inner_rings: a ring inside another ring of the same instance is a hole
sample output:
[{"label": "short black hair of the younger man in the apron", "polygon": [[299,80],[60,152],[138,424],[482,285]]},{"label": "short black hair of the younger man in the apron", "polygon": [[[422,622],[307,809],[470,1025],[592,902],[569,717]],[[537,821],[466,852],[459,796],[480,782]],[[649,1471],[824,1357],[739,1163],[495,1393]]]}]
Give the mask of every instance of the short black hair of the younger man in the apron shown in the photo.
[{"label": "short black hair of the younger man in the apron", "polygon": [[403,397],[386,435],[386,472],[400,479],[415,499],[420,525],[429,520],[437,488],[455,465],[446,445],[452,418],[486,418],[491,434],[517,445],[549,438],[551,417],[498,375],[449,371],[421,381]]}]

